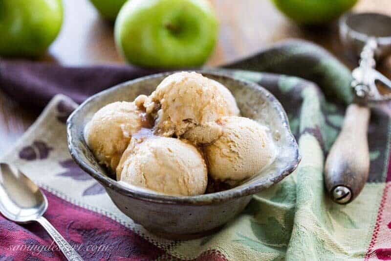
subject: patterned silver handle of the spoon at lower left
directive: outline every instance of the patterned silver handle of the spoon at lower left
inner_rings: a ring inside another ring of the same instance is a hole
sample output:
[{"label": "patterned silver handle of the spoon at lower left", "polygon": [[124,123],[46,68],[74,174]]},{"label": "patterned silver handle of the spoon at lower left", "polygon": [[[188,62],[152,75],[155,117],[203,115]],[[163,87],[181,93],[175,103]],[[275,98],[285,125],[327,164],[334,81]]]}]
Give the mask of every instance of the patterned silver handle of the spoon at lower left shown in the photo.
[{"label": "patterned silver handle of the spoon at lower left", "polygon": [[40,223],[43,228],[49,233],[50,237],[56,242],[61,252],[63,252],[65,258],[69,261],[83,261],[82,257],[72,248],[72,246],[66,242],[63,236],[47,221],[43,216],[36,219],[38,223]]}]

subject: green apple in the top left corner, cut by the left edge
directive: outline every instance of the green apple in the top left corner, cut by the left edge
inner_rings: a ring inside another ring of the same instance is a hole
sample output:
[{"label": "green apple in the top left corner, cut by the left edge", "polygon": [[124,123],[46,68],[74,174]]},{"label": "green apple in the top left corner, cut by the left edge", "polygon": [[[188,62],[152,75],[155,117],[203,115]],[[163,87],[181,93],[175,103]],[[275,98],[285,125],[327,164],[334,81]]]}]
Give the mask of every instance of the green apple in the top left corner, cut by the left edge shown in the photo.
[{"label": "green apple in the top left corner, cut by the left edge", "polygon": [[39,56],[63,23],[61,0],[0,0],[0,56]]}]

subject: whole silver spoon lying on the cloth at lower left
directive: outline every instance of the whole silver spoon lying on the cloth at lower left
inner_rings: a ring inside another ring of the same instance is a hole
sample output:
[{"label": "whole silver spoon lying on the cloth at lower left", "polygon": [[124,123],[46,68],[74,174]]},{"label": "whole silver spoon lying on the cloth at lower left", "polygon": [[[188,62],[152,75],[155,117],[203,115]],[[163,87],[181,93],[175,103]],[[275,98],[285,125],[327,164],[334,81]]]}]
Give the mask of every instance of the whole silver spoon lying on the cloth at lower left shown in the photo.
[{"label": "whole silver spoon lying on the cloth at lower left", "polygon": [[21,224],[37,221],[64,253],[67,260],[83,261],[64,237],[43,217],[47,199],[35,185],[15,166],[0,163],[0,213]]}]

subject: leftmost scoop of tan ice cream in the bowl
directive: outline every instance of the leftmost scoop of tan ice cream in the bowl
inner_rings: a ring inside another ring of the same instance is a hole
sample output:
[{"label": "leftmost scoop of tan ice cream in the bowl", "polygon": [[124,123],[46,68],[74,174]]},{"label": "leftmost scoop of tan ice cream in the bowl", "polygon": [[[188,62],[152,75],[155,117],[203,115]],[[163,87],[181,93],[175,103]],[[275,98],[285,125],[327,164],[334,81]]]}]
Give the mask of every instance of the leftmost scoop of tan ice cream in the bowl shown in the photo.
[{"label": "leftmost scoop of tan ice cream in the bowl", "polygon": [[133,102],[110,103],[95,113],[84,136],[100,164],[115,171],[131,135],[141,129],[143,120]]}]

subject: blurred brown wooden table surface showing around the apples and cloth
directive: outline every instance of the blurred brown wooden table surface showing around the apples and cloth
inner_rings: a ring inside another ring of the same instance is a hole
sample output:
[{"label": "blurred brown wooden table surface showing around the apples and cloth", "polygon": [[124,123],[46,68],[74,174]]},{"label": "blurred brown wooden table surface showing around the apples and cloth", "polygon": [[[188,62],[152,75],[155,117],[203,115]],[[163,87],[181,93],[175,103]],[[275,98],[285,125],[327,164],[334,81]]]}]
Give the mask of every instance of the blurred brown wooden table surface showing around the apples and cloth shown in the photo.
[{"label": "blurred brown wooden table surface showing around the apples and cloth", "polygon": [[[270,0],[211,0],[220,21],[219,42],[209,65],[220,65],[250,55],[286,38],[303,38],[326,47],[349,67],[335,24],[327,30],[304,30],[278,12]],[[65,20],[60,35],[44,60],[67,65],[124,63],[114,47],[112,25],[103,21],[88,0],[63,0]],[[390,0],[360,0],[356,11],[391,15]],[[391,59],[380,66],[391,76]],[[24,108],[0,93],[0,155],[38,117],[39,111]]]}]

